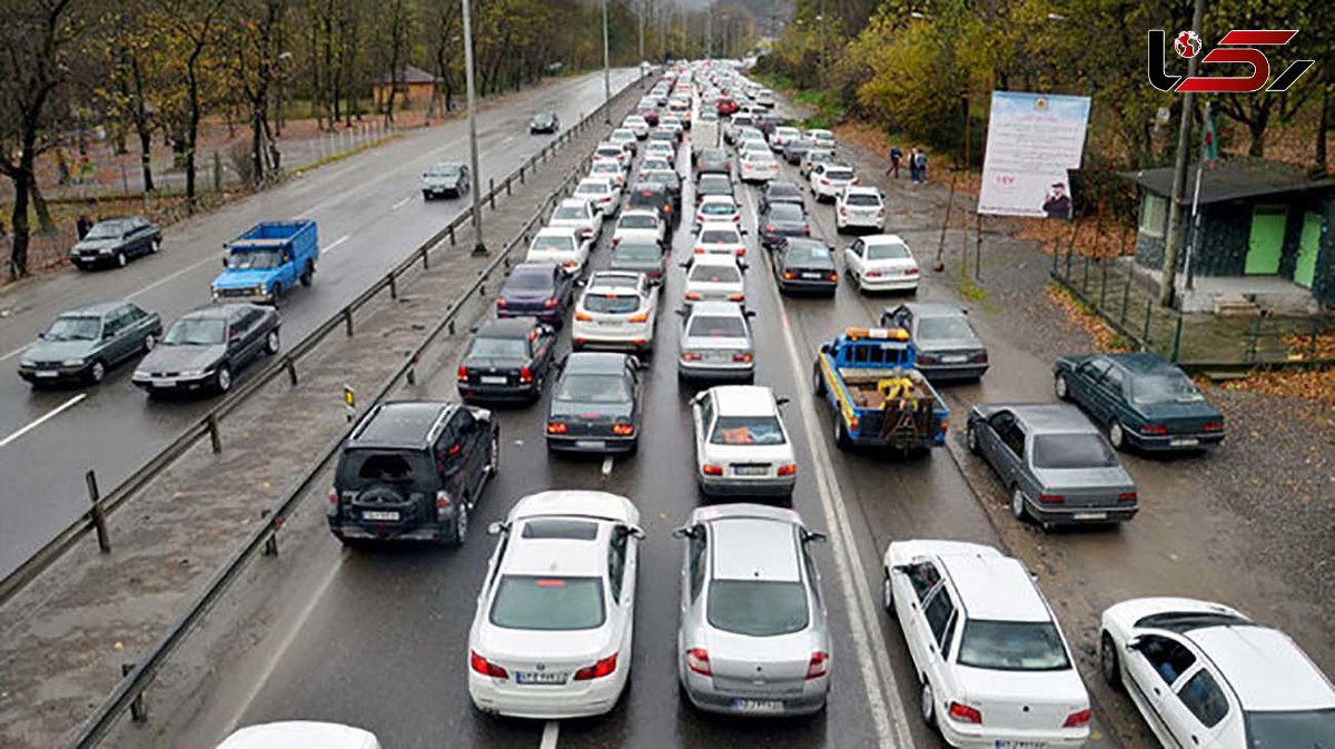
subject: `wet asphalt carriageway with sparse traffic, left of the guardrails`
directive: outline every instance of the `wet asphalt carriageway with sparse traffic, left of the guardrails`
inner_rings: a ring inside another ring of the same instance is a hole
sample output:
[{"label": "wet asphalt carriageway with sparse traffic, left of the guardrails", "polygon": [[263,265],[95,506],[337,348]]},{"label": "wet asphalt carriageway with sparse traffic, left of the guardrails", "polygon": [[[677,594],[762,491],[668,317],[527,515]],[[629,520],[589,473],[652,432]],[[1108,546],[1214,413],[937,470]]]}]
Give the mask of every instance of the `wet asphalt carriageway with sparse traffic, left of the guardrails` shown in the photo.
[{"label": "wet asphalt carriageway with sparse traffic, left of the guardrails", "polygon": [[[614,71],[613,89],[634,75]],[[553,108],[569,127],[601,104],[602,95],[602,76],[587,75],[521,92],[503,105],[483,104],[475,187],[485,190],[489,178],[499,180],[550,140],[527,134],[533,111]],[[454,120],[409,132],[260,198],[171,227],[162,254],[125,268],[69,268],[0,296],[0,310],[8,311],[0,324],[0,577],[87,509],[87,469],[96,470],[108,491],[216,401],[148,402],[129,382],[135,360],[99,386],[33,391],[13,370],[37,332],[67,308],[117,298],[160,312],[170,324],[208,303],[226,240],[259,220],[314,218],[324,251],[316,282],[295,290],[280,307],[283,346],[291,347],[465,210],[467,199],[423,202],[418,184],[423,168],[437,160],[467,160],[466,127]],[[52,415],[61,406],[65,410]]]}]

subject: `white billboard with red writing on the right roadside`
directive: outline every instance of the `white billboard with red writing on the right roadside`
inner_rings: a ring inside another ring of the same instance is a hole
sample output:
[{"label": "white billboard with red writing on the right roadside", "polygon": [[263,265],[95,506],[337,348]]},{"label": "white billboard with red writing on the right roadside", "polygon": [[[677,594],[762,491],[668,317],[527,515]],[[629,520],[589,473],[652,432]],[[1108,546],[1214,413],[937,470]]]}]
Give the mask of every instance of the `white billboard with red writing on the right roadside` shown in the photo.
[{"label": "white billboard with red writing on the right roadside", "polygon": [[1088,123],[1088,96],[993,91],[979,212],[1069,219]]}]

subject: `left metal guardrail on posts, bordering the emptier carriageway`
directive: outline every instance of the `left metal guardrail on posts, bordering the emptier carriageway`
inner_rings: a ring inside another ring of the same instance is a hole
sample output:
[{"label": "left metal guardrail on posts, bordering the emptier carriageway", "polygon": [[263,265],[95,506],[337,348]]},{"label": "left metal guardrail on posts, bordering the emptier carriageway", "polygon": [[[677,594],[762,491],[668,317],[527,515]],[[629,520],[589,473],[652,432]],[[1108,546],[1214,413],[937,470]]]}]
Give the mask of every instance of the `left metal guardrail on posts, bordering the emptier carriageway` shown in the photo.
[{"label": "left metal guardrail on posts, bordering the emptier carriageway", "polygon": [[[618,101],[627,92],[635,88],[635,83],[622,88],[615,96],[613,96],[613,103]],[[602,124],[597,121],[603,113],[603,107],[607,104],[599,104],[594,111],[585,115],[575,126],[562,131],[562,134],[553,142],[542,147],[541,151],[530,156],[525,163],[519,164],[519,168],[510,172],[499,184],[491,180],[491,186],[486,194],[483,194],[478,202],[479,206],[483,203],[489,204],[491,210],[495,210],[495,199],[501,192],[510,195],[514,190],[514,184],[518,180],[523,184],[527,175],[534,174],[538,164],[550,159],[559,147],[570,142],[575,135],[585,132],[590,126]],[[478,186],[474,186],[477,188]],[[146,483],[148,483],[159,473],[175,463],[182,455],[188,453],[200,439],[208,437],[214,453],[222,451],[222,439],[219,435],[219,422],[227,415],[235,411],[244,403],[252,394],[259,391],[259,389],[268,385],[274,378],[280,374],[287,374],[290,382],[295,386],[299,382],[299,375],[296,371],[296,362],[320,344],[330,334],[332,334],[339,327],[347,331],[347,335],[354,334],[354,314],[368,304],[372,299],[380,295],[384,290],[390,291],[391,299],[398,299],[398,286],[399,278],[402,278],[409,270],[422,263],[423,270],[430,267],[430,255],[446,240],[450,242],[450,247],[454,247],[455,234],[458,230],[463,228],[473,220],[473,208],[467,207],[462,214],[454,218],[449,224],[441,231],[422,243],[417,250],[414,250],[407,258],[403,259],[398,266],[395,266],[383,278],[372,283],[362,294],[359,294],[352,302],[344,306],[342,310],[335,312],[331,318],[320,323],[315,330],[306,334],[306,336],[296,343],[288,352],[283,354],[272,364],[264,367],[262,371],[247,378],[235,390],[232,390],[222,402],[219,402],[214,409],[204,414],[199,421],[186,427],[175,439],[166,445],[158,451],[152,458],[150,458],[144,465],[142,465],[135,473],[129,474],[124,481],[120,482],[115,489],[108,491],[105,495],[99,495],[93,487],[96,486],[95,477],[88,479],[89,483],[89,499],[92,501],[88,511],[81,514],[69,526],[56,534],[55,538],[48,541],[41,549],[39,549],[32,557],[25,562],[19,565],[13,571],[7,574],[4,579],[0,579],[0,605],[12,598],[16,593],[23,590],[23,587],[41,574],[51,563],[59,559],[65,551],[68,551],[75,543],[77,543],[89,531],[97,530],[104,533],[105,517],[116,511],[121,505],[125,503],[131,497],[134,497]],[[101,529],[101,530],[99,530]]]}]

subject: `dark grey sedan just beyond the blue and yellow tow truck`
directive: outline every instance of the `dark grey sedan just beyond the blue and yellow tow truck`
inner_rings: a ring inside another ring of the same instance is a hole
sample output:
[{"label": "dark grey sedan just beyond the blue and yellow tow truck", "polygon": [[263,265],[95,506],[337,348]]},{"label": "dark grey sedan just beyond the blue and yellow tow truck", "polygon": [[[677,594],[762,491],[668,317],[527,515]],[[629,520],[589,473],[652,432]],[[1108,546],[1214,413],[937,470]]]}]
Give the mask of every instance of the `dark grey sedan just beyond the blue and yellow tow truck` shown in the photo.
[{"label": "dark grey sedan just beyond the blue and yellow tow truck", "polygon": [[910,302],[886,307],[881,326],[909,331],[917,347],[917,368],[928,379],[979,379],[988,371],[988,347],[957,304]]}]

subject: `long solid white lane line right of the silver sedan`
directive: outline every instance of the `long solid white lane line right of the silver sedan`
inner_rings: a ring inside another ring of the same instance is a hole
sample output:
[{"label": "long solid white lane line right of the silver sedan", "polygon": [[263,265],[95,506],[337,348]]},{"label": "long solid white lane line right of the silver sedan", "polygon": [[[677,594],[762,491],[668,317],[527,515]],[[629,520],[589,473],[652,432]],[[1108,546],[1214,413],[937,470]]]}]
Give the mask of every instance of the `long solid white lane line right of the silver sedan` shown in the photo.
[{"label": "long solid white lane line right of the silver sedan", "polygon": [[[748,208],[754,215],[756,206],[752,192],[744,190],[742,195]],[[761,272],[769,275],[768,268]],[[793,327],[789,323],[788,308],[784,306],[784,296],[778,294],[772,279],[765,286],[778,306],[780,327],[784,328],[789,363],[793,367],[796,382],[801,386],[806,382],[806,368],[802,366],[797,342],[793,339]],[[913,738],[908,733],[908,714],[900,702],[900,689],[894,680],[894,669],[890,666],[889,650],[880,636],[877,606],[872,602],[866,579],[860,574],[857,538],[852,531],[852,522],[845,510],[844,495],[838,489],[834,466],[825,450],[825,438],[816,429],[820,421],[816,414],[814,397],[794,398],[794,401],[800,406],[802,429],[816,461],[816,487],[825,514],[825,523],[828,529],[833,530],[829,538],[838,573],[840,593],[849,611],[849,629],[853,633],[858,670],[862,676],[862,685],[866,688],[868,708],[872,712],[872,721],[876,724],[878,745],[882,749],[913,749]],[[892,698],[886,700],[886,692]],[[886,709],[890,714],[886,713]]]}]

